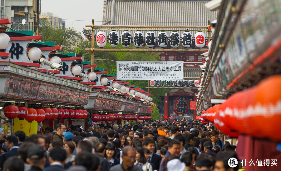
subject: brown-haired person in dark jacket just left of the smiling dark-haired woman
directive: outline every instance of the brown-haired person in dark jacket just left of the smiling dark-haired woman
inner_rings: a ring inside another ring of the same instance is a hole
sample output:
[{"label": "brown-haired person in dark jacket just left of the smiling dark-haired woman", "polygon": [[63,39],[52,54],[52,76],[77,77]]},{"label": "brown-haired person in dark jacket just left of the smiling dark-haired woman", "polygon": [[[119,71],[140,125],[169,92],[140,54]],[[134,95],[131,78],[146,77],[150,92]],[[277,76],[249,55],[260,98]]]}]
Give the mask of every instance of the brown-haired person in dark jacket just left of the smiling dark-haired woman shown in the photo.
[{"label": "brown-haired person in dark jacket just left of the smiling dark-haired woman", "polygon": [[100,165],[101,165],[101,170],[102,171],[109,171],[110,164],[108,161],[104,158],[105,154],[105,145],[103,143],[97,143],[94,146],[95,149],[95,154],[99,157],[100,159]]}]

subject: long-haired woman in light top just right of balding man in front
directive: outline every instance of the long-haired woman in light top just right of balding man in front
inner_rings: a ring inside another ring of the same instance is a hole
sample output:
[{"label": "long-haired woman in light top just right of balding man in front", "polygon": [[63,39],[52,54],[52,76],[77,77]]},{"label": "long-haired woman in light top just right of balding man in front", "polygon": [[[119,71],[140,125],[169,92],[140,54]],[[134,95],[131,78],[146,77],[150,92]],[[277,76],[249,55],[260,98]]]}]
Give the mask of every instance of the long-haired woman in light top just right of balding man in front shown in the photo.
[{"label": "long-haired woman in light top just right of balding man in front", "polygon": [[136,148],[136,162],[134,165],[139,166],[143,171],[152,171],[152,165],[145,158],[144,148]]}]

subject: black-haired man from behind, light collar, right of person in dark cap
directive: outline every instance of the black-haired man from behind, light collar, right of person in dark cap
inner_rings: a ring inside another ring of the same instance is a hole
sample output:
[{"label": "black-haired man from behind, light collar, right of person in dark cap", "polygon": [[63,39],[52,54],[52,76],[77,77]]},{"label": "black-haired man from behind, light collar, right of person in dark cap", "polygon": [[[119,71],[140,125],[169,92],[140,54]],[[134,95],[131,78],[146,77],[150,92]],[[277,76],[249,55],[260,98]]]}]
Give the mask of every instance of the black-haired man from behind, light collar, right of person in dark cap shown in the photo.
[{"label": "black-haired man from behind, light collar, right of person in dark cap", "polygon": [[45,171],[62,171],[65,159],[67,158],[66,151],[63,148],[55,147],[50,151],[49,161],[51,166],[44,168]]}]

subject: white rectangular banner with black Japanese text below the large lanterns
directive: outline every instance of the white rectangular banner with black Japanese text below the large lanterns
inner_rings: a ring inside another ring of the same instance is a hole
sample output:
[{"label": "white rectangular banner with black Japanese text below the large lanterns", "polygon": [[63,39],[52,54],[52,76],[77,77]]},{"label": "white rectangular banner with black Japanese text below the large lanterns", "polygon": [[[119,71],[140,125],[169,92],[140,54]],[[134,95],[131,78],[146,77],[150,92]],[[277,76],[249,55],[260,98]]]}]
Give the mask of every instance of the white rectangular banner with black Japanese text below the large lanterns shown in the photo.
[{"label": "white rectangular banner with black Japanese text below the large lanterns", "polygon": [[183,79],[183,61],[117,61],[117,79]]}]

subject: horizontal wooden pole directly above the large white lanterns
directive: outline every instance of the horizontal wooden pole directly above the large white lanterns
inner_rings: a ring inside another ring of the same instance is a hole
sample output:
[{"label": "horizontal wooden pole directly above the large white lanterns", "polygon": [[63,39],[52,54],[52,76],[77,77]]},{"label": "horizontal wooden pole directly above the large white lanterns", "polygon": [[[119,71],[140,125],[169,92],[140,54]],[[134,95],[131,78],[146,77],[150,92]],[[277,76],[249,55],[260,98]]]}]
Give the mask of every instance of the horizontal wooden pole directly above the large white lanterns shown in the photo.
[{"label": "horizontal wooden pole directly above the large white lanterns", "polygon": [[132,26],[132,25],[86,25],[86,27],[94,28],[198,28],[208,29],[208,26]]}]

